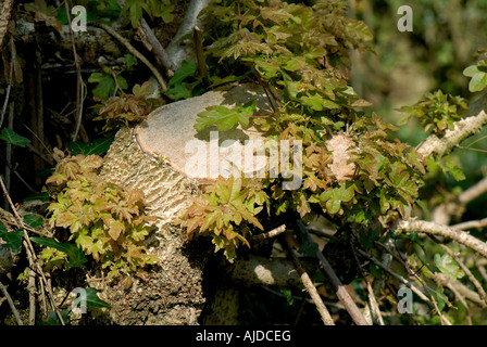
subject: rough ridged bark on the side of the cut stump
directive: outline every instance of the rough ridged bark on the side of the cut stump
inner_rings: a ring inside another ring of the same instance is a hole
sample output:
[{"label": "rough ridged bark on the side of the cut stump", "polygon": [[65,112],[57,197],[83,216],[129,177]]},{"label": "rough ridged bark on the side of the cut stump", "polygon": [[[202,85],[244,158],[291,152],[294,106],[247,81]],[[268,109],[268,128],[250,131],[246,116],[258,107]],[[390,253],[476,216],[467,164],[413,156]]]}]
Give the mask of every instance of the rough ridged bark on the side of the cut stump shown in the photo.
[{"label": "rough ridged bark on the side of the cut stump", "polygon": [[174,226],[197,192],[195,181],[159,164],[140,150],[130,129],[118,131],[104,158],[102,175],[108,181],[140,189],[159,217],[147,241],[149,253],[161,261],[126,290],[122,283],[105,288],[111,319],[116,324],[196,324],[204,303],[202,270],[208,250],[188,248]]}]

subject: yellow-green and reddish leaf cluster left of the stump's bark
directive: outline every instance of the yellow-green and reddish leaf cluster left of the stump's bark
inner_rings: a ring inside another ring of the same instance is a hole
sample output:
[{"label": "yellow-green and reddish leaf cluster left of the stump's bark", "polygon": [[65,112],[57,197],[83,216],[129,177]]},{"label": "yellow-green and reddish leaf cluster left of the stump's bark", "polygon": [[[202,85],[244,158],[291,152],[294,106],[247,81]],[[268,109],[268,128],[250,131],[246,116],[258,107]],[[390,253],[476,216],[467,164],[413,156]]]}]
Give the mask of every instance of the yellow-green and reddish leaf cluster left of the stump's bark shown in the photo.
[{"label": "yellow-green and reddish leaf cluster left of the stump's bark", "polygon": [[[52,227],[68,230],[59,239],[74,241],[75,245],[90,255],[102,268],[110,268],[110,275],[122,271],[136,271],[153,264],[142,241],[149,234],[143,194],[137,190],[125,190],[104,181],[98,171],[102,158],[82,154],[64,158],[47,180],[55,202],[49,206]],[[39,240],[38,240],[39,241]],[[43,245],[70,255],[64,244]],[[47,244],[50,243],[50,244]],[[67,250],[67,252],[66,252]],[[83,262],[83,261],[80,261]]]}]

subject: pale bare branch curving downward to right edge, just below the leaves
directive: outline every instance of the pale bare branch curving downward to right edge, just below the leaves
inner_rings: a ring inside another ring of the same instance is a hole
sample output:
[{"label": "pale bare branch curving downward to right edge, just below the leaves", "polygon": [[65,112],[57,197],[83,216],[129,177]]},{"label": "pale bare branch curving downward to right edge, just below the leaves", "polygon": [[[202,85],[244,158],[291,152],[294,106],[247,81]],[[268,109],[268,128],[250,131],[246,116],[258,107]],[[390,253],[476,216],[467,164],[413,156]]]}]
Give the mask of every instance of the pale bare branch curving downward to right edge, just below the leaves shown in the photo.
[{"label": "pale bare branch curving downward to right edge, just below the leaves", "polygon": [[409,219],[398,221],[392,227],[392,232],[395,234],[401,234],[403,232],[422,232],[429,235],[444,236],[463,244],[487,258],[487,244],[485,242],[470,235],[466,231],[461,231],[451,227],[425,220]]}]

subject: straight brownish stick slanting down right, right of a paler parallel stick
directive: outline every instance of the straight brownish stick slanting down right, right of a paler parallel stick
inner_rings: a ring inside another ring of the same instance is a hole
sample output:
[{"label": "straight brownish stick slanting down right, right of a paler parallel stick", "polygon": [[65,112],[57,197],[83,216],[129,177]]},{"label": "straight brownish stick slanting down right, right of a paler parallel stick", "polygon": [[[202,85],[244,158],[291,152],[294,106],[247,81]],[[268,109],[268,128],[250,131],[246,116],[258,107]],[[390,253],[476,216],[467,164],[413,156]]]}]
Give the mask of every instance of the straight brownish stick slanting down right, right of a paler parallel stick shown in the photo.
[{"label": "straight brownish stick slanting down right, right of a paler parallel stick", "polygon": [[[299,220],[299,219],[297,220],[297,226],[298,226],[299,230],[308,239],[308,242],[313,244],[314,241],[311,239],[310,233],[308,232],[307,228],[304,227],[304,224],[302,223],[301,220]],[[353,299],[351,298],[350,294],[348,294],[344,284],[341,284],[341,281],[336,275],[336,273],[333,270],[332,266],[329,265],[328,260],[326,260],[325,256],[323,255],[323,253],[320,252],[319,248],[316,248],[316,257],[319,258],[320,264],[321,264],[322,269],[324,270],[325,274],[328,277],[333,286],[335,287],[338,298],[340,299],[341,304],[344,304],[345,308],[349,312],[353,322],[357,325],[369,325],[367,321],[365,320],[362,312],[357,307],[357,305],[353,301]]]}]

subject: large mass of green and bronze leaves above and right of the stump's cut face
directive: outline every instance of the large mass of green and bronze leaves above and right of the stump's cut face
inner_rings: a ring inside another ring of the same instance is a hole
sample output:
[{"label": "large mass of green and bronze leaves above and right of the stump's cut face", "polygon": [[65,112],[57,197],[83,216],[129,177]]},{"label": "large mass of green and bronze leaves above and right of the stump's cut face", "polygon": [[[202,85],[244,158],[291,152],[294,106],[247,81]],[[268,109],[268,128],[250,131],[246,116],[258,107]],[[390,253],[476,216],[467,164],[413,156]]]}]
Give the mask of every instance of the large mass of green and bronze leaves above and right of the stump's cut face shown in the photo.
[{"label": "large mass of green and bronze leaves above and right of the stump's cut face", "polygon": [[[282,187],[288,174],[297,172],[292,167],[277,178],[267,175],[261,180],[272,202],[271,215],[298,213],[308,220],[324,215],[339,224],[361,226],[379,216],[386,220],[397,214],[410,216],[425,172],[423,158],[391,139],[397,128],[365,113],[370,103],[350,86],[349,50],[367,49],[372,34],[364,23],[346,16],[345,1],[316,1],[308,7],[278,0],[221,0],[205,10],[203,18],[211,18],[209,56],[216,57],[225,70],[244,72],[240,78],[261,83],[270,104],[277,106],[269,117],[251,117],[253,111],[240,110],[250,103],[232,110],[210,107],[199,114],[196,129],[216,125],[224,131],[257,125],[269,139],[302,143],[301,189]],[[348,143],[342,165],[354,167],[346,178],[337,178],[330,167],[336,154],[328,146],[337,136]],[[294,151],[289,153],[286,159],[295,163]],[[200,207],[217,209],[226,204],[217,197],[200,202]],[[230,205],[222,210],[235,213]],[[210,230],[202,213],[188,218],[185,226],[191,232],[202,226],[205,233]],[[239,227],[234,223],[230,230]]]}]

